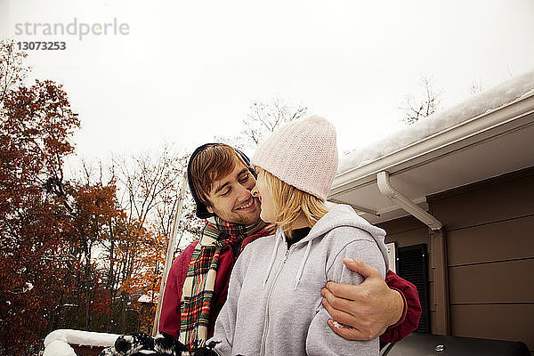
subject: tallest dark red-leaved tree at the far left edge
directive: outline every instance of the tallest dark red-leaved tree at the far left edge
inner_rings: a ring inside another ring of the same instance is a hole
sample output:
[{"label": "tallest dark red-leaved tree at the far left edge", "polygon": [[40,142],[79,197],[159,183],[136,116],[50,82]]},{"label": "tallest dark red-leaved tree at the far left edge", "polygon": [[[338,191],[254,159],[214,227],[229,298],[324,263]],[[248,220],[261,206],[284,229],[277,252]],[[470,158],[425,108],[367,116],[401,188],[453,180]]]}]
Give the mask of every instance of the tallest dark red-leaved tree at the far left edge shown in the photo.
[{"label": "tallest dark red-leaved tree at the far left edge", "polygon": [[61,85],[23,85],[24,57],[0,42],[1,354],[36,352],[78,265],[62,166],[79,121]]}]

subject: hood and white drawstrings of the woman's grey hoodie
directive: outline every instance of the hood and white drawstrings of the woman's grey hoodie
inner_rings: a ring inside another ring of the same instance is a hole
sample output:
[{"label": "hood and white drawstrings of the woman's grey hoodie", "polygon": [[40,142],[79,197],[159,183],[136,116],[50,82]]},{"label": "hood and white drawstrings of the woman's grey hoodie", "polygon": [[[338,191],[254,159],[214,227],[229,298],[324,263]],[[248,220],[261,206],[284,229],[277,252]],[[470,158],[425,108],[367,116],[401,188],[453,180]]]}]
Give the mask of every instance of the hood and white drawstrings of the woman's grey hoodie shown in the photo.
[{"label": "hood and white drawstrings of the woman's grey hoodie", "polygon": [[[327,234],[329,231],[332,231],[342,226],[357,228],[362,231],[368,232],[368,234],[375,240],[376,246],[380,249],[380,252],[382,253],[382,256],[384,257],[385,271],[389,269],[389,261],[387,258],[387,248],[384,245],[385,231],[374,225],[371,225],[370,223],[368,223],[367,220],[363,219],[360,215],[356,214],[352,206],[339,204],[339,205],[332,207],[328,211],[328,213],[325,214],[319,220],[319,222],[315,223],[315,225],[313,225],[312,227],[312,230],[308,233],[308,235],[305,238],[301,239],[298,242],[295,242],[295,246],[299,246],[303,244],[307,244],[307,246],[306,246],[305,253],[303,255],[302,262],[300,263],[300,266],[295,276],[294,289],[296,289],[302,277],[304,266],[308,260],[308,256],[310,255],[310,248],[312,247],[312,241],[314,239],[319,239],[325,234]],[[267,283],[267,280],[269,279],[269,275],[271,274],[272,266],[275,262],[276,255],[278,253],[280,246],[286,247],[286,234],[280,227],[276,231],[275,239],[276,240],[275,240],[274,247],[272,250],[271,260],[268,264],[265,277],[263,278],[263,286],[265,286],[265,283]]]}]

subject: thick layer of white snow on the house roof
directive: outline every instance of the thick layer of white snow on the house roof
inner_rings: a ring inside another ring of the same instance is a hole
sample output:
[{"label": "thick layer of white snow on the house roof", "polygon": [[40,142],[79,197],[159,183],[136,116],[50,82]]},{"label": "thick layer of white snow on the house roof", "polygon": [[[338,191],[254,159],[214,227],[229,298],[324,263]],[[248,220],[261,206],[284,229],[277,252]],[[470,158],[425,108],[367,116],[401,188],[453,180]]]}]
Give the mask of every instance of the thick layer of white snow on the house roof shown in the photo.
[{"label": "thick layer of white snow on the house roof", "polygon": [[522,76],[514,77],[490,90],[478,93],[450,109],[433,114],[415,124],[402,127],[383,139],[358,148],[340,159],[337,174],[364,166],[377,158],[401,150],[449,127],[481,114],[487,114],[530,95],[534,95],[534,70]]}]

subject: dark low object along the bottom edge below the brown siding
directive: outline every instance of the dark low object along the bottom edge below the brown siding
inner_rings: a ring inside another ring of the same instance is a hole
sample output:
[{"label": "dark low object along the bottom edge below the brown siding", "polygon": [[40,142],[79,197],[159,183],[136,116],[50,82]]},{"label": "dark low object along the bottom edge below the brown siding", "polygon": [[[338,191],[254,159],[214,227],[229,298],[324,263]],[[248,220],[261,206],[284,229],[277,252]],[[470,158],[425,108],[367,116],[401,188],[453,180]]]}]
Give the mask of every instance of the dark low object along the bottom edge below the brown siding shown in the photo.
[{"label": "dark low object along the bottom edge below the brown siding", "polygon": [[530,356],[520,342],[473,337],[411,334],[396,344],[386,344],[380,356]]}]

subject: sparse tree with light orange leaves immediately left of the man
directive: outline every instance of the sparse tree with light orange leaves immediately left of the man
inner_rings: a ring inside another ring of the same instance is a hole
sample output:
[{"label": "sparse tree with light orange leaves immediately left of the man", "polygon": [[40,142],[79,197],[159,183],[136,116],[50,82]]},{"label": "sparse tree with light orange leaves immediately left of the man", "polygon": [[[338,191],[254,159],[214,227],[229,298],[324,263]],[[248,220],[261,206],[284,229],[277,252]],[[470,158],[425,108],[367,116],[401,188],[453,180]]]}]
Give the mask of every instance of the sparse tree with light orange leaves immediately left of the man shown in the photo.
[{"label": "sparse tree with light orange leaves immediately left of the man", "polygon": [[[132,157],[115,157],[111,167],[122,188],[122,206],[127,215],[130,233],[121,242],[117,278],[121,280],[119,300],[123,303],[120,323],[126,331],[126,311],[138,310],[140,328],[149,331],[155,316],[159,285],[163,274],[167,242],[174,223],[182,176],[189,156],[164,144],[160,150],[150,150]],[[182,217],[176,226],[177,245],[186,245],[196,236],[202,222],[194,216],[194,204],[186,198]],[[138,303],[145,295],[150,303]],[[128,307],[128,304],[130,307]],[[150,306],[151,311],[147,311]],[[144,308],[144,309],[143,309]],[[141,312],[142,311],[142,312]]]}]

